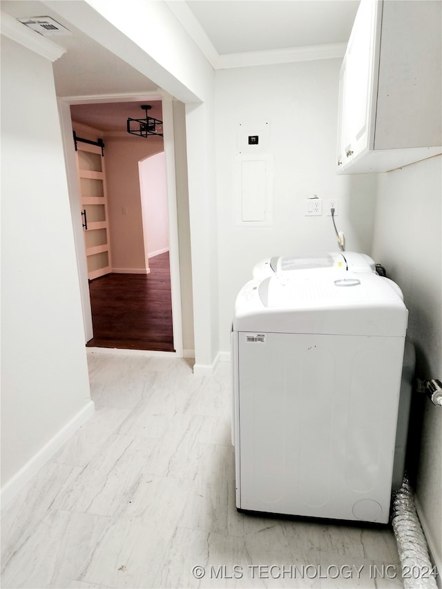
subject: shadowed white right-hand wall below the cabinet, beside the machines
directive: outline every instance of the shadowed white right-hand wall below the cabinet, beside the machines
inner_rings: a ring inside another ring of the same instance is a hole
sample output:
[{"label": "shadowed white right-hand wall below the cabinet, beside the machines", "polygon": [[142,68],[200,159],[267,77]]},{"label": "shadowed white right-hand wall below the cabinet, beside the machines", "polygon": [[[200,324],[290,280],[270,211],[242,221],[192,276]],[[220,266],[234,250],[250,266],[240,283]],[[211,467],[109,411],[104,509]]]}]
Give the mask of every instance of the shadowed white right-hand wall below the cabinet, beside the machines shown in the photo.
[{"label": "shadowed white right-hand wall below the cabinet, beside the machines", "polygon": [[[373,254],[403,290],[416,376],[424,379],[442,378],[441,202],[442,155],[378,175]],[[442,409],[425,400],[416,501],[439,571],[441,480]]]}]

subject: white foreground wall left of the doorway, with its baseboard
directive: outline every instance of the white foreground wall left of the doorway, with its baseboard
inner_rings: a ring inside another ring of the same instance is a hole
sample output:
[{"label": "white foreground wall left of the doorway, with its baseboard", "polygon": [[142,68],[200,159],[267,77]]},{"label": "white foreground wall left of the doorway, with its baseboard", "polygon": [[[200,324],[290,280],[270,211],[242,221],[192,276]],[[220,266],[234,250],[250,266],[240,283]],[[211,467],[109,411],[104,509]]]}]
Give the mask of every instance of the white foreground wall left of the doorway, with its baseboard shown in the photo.
[{"label": "white foreground wall left of the doorway, with its baseboard", "polygon": [[93,411],[52,63],[1,37],[1,479],[7,500]]}]

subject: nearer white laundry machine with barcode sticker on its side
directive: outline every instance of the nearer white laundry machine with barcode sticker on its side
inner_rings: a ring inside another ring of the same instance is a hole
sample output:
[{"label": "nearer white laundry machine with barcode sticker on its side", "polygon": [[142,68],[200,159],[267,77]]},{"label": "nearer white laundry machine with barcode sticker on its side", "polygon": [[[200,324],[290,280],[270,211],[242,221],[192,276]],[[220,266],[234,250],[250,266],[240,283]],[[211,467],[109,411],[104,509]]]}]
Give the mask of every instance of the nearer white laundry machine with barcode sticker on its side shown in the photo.
[{"label": "nearer white laundry machine with barcode sticker on its side", "polygon": [[251,280],[232,331],[239,510],[387,523],[407,309],[375,273]]}]

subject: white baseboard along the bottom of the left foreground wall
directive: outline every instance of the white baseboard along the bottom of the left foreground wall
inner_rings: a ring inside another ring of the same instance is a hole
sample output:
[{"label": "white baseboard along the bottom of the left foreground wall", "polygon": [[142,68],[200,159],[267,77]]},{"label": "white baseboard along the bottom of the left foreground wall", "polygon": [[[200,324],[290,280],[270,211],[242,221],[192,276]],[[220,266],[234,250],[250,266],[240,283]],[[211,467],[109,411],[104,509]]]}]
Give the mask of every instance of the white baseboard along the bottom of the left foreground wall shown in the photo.
[{"label": "white baseboard along the bottom of the left foreground wall", "polygon": [[73,418],[59,429],[59,432],[52,436],[52,438],[40,448],[40,450],[28,460],[28,462],[21,467],[21,469],[9,479],[0,491],[1,507],[5,505],[15,496],[26,483],[36,474],[39,469],[46,464],[54,456],[61,446],[68,441],[70,436],[77,429],[86,423],[88,419],[93,415],[95,411],[95,405],[92,400],[88,400],[83,409],[73,416]]}]

